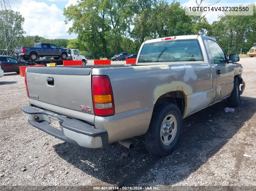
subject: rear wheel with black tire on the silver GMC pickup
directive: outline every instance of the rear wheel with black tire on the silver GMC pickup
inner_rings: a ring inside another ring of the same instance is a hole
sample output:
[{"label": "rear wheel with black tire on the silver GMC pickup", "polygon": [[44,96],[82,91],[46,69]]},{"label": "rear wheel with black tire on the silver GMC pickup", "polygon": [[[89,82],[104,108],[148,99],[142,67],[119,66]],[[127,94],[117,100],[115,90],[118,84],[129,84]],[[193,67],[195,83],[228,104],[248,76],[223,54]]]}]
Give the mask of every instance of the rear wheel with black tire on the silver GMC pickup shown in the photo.
[{"label": "rear wheel with black tire on the silver GMC pickup", "polygon": [[[168,118],[170,121],[166,123]],[[173,123],[171,123],[172,120],[174,120]],[[171,123],[171,126],[169,123]],[[170,127],[165,126],[165,124],[168,124]],[[173,133],[171,137],[170,135],[162,135],[163,129],[166,127],[168,130],[165,132]],[[166,156],[177,146],[181,132],[182,116],[179,108],[173,103],[156,103],[148,131],[144,135],[145,147],[151,153]]]}]

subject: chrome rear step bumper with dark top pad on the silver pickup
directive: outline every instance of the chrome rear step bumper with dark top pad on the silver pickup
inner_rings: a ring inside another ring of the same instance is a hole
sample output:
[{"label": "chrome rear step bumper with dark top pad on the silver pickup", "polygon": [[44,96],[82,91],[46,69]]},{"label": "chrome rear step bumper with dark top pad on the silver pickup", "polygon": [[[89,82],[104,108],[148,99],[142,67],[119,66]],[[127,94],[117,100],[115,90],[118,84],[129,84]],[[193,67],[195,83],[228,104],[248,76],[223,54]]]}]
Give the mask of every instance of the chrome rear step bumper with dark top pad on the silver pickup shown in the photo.
[{"label": "chrome rear step bumper with dark top pad on the silver pickup", "polygon": [[[101,148],[108,145],[108,132],[95,129],[95,126],[88,123],[37,107],[25,106],[21,110],[29,124],[65,142],[87,148]],[[50,118],[59,122],[60,129],[51,125]]]}]

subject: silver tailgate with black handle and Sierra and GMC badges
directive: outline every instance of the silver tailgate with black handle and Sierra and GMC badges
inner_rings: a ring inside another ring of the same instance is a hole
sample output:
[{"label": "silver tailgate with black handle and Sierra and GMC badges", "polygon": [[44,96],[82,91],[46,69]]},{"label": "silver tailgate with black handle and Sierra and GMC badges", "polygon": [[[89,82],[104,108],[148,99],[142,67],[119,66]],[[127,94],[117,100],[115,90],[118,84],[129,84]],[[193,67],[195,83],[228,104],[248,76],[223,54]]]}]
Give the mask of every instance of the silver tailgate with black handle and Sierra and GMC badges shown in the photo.
[{"label": "silver tailgate with black handle and Sierra and GMC badges", "polygon": [[54,112],[61,107],[63,114],[75,118],[89,115],[91,121],[91,68],[31,67],[26,71],[30,103]]}]

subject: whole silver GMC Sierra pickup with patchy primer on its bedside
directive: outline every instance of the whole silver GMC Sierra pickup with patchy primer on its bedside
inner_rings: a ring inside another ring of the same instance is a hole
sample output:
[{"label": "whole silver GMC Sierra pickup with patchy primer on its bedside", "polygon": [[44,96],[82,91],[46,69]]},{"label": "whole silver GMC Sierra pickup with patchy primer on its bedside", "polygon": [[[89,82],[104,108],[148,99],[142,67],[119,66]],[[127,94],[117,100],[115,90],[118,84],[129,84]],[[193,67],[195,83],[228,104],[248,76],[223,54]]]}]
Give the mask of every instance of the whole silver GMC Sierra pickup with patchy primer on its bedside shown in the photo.
[{"label": "whole silver GMC Sierra pickup with patchy primer on its bedside", "polygon": [[164,156],[178,144],[182,119],[225,98],[239,105],[245,83],[238,61],[214,39],[191,35],[145,41],[135,65],[30,67],[22,111],[65,142],[131,149],[125,139],[143,135],[148,151]]}]

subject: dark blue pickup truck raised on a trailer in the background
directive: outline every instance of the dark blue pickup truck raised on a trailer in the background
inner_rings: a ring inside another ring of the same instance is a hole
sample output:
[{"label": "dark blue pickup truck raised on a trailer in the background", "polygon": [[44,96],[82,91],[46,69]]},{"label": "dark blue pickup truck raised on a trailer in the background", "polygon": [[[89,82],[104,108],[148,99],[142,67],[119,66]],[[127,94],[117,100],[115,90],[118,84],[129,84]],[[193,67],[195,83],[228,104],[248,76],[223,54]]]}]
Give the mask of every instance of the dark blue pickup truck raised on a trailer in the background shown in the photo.
[{"label": "dark blue pickup truck raised on a trailer in the background", "polygon": [[67,59],[67,49],[59,48],[51,43],[35,43],[34,47],[17,47],[15,55],[22,57],[25,61],[35,61],[38,57],[51,56],[54,59]]}]

